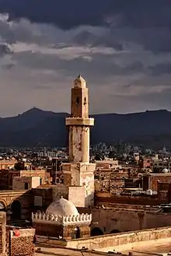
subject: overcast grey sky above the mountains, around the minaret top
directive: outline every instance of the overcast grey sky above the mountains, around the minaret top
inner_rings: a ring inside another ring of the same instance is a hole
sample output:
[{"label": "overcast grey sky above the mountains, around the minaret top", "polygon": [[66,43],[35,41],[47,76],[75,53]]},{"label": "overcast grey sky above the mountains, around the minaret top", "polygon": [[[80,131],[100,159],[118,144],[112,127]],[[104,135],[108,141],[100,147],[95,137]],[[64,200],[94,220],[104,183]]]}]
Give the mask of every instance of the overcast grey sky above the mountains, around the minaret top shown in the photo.
[{"label": "overcast grey sky above the mountains, around the minaret top", "polygon": [[171,2],[0,1],[1,117],[70,111],[79,73],[92,114],[171,110]]}]

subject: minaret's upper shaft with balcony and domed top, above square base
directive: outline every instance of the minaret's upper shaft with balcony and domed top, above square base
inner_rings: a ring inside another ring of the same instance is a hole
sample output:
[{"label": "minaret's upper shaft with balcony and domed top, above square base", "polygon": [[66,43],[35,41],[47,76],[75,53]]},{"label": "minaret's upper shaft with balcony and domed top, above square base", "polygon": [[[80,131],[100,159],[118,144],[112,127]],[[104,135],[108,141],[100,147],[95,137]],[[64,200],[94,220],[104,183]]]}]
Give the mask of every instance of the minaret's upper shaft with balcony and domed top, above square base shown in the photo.
[{"label": "minaret's upper shaft with balcony and domed top, above square base", "polygon": [[89,128],[94,118],[89,118],[89,89],[81,75],[72,87],[71,117],[66,118],[69,127],[69,161],[89,163]]}]

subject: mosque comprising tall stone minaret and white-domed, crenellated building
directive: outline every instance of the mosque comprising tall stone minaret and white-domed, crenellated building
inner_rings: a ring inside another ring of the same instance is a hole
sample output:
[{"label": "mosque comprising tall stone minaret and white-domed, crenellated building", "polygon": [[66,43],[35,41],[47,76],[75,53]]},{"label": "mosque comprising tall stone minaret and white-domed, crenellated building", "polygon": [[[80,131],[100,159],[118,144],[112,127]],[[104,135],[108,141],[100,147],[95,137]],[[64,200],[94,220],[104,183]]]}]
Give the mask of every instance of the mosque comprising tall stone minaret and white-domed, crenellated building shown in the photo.
[{"label": "mosque comprising tall stone minaret and white-domed, crenellated building", "polygon": [[69,130],[69,162],[61,171],[68,185],[67,198],[55,198],[45,212],[32,213],[37,235],[65,240],[90,237],[92,214],[79,214],[76,207],[94,205],[95,163],[89,163],[89,129],[94,119],[89,118],[89,90],[81,75],[72,87],[71,116],[66,118]]}]

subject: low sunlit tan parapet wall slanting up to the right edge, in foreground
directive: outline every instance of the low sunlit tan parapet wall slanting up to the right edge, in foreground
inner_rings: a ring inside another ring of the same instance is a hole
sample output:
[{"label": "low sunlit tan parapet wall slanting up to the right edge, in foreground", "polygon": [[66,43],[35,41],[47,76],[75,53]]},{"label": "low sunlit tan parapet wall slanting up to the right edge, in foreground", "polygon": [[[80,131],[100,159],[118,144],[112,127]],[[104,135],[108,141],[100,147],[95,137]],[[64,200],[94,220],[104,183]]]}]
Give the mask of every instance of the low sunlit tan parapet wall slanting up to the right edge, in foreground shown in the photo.
[{"label": "low sunlit tan parapet wall slanting up to the right edge, in foreground", "polygon": [[114,249],[114,247],[118,245],[157,240],[167,237],[171,237],[171,227],[110,234],[99,237],[90,237],[89,239],[70,240],[67,242],[67,247],[75,249],[82,249],[82,247],[86,247],[89,250],[100,251],[101,248],[113,247]]}]

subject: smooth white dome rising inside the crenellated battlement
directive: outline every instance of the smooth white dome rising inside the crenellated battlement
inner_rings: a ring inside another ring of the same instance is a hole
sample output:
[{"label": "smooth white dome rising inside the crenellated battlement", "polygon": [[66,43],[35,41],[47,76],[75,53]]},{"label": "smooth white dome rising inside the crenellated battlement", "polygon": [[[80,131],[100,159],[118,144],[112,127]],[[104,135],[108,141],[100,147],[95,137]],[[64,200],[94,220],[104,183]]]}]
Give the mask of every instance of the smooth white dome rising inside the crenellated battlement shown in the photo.
[{"label": "smooth white dome rising inside the crenellated battlement", "polygon": [[72,202],[61,197],[47,207],[46,214],[53,214],[57,216],[77,216],[79,215],[79,212]]}]

